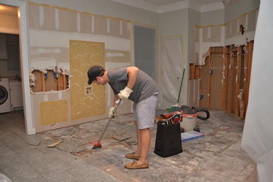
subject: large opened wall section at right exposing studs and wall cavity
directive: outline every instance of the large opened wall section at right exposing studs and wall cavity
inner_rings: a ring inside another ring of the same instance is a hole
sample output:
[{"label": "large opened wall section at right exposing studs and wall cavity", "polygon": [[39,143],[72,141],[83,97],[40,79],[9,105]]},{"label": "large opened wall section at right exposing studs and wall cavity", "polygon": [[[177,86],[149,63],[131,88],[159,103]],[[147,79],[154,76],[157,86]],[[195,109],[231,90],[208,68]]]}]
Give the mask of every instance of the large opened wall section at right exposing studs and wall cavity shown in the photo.
[{"label": "large opened wall section at right exposing studs and wall cavity", "polygon": [[[199,106],[242,116],[247,108],[253,41],[239,47],[212,47],[200,72]],[[246,103],[245,108],[243,108]]]}]

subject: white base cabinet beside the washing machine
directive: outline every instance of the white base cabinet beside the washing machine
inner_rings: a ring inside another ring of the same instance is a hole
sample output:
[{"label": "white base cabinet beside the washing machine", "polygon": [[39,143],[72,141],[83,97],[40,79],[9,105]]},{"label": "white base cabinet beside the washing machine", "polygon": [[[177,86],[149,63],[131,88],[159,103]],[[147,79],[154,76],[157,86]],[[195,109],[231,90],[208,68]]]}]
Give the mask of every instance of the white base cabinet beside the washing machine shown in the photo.
[{"label": "white base cabinet beside the washing machine", "polygon": [[10,81],[11,109],[23,107],[22,82]]}]

